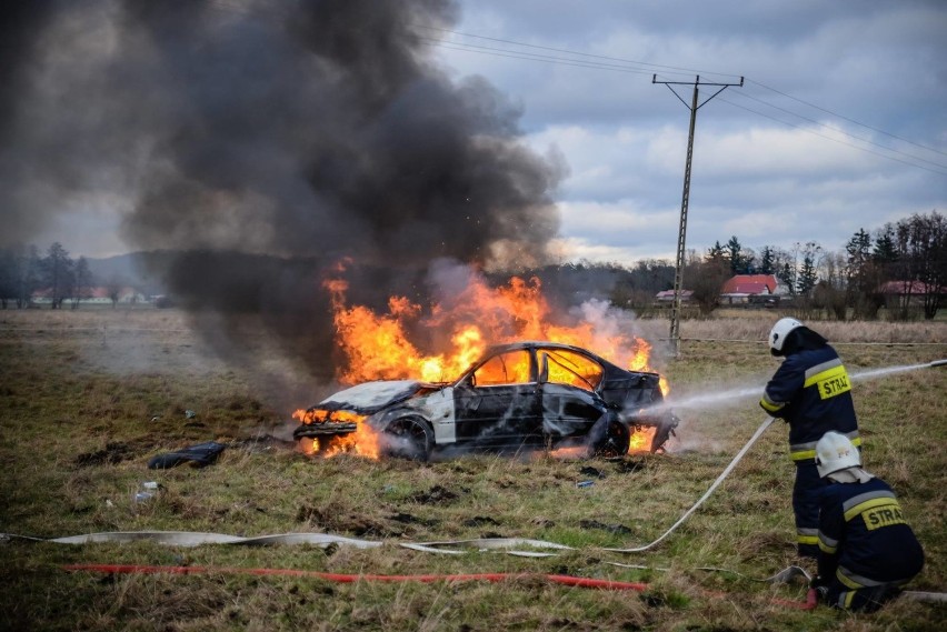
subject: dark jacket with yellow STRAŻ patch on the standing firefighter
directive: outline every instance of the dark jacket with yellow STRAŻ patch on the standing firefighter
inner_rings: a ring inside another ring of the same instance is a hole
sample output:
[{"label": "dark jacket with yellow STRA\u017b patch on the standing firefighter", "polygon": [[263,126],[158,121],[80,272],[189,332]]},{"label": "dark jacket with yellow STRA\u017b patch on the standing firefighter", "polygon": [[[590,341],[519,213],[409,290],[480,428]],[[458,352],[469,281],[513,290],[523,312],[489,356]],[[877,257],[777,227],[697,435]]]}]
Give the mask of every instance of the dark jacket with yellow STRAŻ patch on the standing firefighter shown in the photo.
[{"label": "dark jacket with yellow STRA\u017b patch on the standing firefighter", "polygon": [[766,385],[759,405],[789,422],[789,451],[794,461],[816,458],[816,443],[835,430],[860,445],[851,401],[851,382],[835,349],[800,351],[787,355]]}]

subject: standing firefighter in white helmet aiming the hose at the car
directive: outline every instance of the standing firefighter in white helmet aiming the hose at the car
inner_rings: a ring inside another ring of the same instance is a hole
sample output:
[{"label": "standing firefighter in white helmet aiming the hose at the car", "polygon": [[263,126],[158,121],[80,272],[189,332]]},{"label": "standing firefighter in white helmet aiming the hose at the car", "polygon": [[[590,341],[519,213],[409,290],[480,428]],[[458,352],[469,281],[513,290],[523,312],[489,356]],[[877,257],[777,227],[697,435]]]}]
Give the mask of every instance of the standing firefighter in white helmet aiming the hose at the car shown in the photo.
[{"label": "standing firefighter in white helmet aiming the hose at the car", "polygon": [[759,404],[789,423],[789,453],[796,464],[793,513],[801,558],[817,558],[819,492],[825,482],[816,470],[816,442],[830,430],[860,445],[851,401],[851,381],[841,359],[825,338],[796,319],[780,319],[769,332],[772,355],[785,358]]}]

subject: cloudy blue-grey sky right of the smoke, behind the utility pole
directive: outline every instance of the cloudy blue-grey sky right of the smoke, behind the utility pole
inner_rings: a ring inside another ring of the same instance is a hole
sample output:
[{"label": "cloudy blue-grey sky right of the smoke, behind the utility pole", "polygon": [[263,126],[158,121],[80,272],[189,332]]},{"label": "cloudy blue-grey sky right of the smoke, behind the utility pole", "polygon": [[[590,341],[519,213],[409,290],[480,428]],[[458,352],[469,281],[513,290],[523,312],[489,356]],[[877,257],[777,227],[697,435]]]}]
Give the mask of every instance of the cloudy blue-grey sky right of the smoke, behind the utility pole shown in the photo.
[{"label": "cloudy blue-grey sky right of the smoke, behind the utility pole", "polygon": [[455,32],[431,36],[568,164],[569,259],[675,258],[692,87],[675,87],[685,104],[654,73],[745,77],[698,109],[689,249],[838,251],[859,228],[947,209],[941,0],[467,0]]}]

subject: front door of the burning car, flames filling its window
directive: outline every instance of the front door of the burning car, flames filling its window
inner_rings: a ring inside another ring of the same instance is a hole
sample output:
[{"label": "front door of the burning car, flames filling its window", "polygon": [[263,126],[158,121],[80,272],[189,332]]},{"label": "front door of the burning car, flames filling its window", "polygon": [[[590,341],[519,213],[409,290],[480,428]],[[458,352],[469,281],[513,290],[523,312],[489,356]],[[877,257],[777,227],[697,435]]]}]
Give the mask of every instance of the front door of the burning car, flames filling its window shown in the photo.
[{"label": "front door of the burning car, flames filling its window", "polygon": [[541,410],[529,349],[488,358],[453,393],[458,442],[504,450],[541,444]]}]

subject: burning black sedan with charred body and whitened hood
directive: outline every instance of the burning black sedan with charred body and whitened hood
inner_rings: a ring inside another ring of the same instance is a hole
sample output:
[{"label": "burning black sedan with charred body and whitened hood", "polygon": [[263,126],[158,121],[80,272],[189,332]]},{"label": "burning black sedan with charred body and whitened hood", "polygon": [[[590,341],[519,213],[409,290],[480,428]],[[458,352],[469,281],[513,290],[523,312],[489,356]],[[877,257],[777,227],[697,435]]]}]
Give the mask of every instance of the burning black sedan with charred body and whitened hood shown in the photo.
[{"label": "burning black sedan with charred body and whitened hood", "polygon": [[656,452],[678,424],[656,405],[664,402],[659,381],[578,347],[516,342],[491,348],[453,382],[376,381],[340,391],[311,407],[293,435],[330,441],[355,432],[350,420],[358,415],[382,433],[390,455],[582,445],[592,455],[621,457],[636,431],[655,428]]}]

